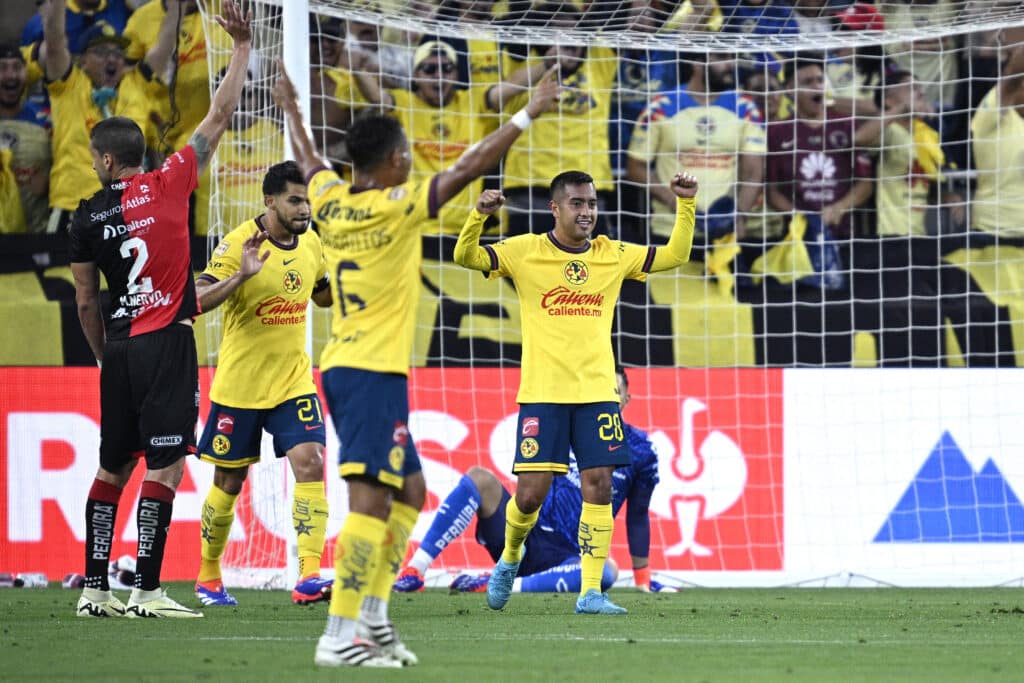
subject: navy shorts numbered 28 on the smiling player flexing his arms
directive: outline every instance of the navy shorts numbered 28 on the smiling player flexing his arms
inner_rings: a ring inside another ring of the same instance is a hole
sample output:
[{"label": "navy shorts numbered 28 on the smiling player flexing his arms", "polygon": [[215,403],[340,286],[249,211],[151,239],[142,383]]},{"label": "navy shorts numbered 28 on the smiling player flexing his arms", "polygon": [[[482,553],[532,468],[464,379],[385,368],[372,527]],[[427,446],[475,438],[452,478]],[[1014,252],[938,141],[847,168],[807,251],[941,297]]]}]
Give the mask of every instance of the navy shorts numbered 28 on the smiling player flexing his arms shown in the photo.
[{"label": "navy shorts numbered 28 on the smiling player flexing his arms", "polygon": [[630,464],[618,403],[522,403],[512,473],[569,471],[569,449],[581,470]]}]

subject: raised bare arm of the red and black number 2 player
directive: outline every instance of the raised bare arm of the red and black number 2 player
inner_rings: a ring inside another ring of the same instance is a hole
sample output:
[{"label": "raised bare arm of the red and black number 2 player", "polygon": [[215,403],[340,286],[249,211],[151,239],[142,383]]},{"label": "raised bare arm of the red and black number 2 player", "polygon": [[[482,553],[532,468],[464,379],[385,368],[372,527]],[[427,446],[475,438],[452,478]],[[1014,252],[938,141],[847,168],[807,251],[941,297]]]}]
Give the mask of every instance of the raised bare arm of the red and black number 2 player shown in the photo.
[{"label": "raised bare arm of the red and black number 2 player", "polygon": [[242,89],[246,84],[246,72],[249,67],[249,53],[252,51],[252,12],[243,16],[242,10],[233,0],[224,0],[223,9],[223,16],[216,17],[217,24],[234,41],[234,49],[231,51],[227,73],[217,86],[217,91],[213,93],[210,111],[188,140],[188,144],[196,152],[200,170],[210,163],[213,151],[220,142],[220,136],[231,123],[231,115],[242,98]]}]

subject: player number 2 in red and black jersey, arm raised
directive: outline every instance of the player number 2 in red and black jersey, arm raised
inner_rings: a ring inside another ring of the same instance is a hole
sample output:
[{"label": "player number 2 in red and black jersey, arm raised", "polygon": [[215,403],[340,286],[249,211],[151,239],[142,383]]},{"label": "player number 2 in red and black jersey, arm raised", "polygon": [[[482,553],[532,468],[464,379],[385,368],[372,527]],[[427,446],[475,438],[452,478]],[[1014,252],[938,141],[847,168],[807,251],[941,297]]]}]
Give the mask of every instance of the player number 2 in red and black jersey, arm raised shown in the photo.
[{"label": "player number 2 in red and black jersey, arm raised", "polygon": [[[174,494],[196,451],[199,369],[191,323],[200,312],[188,249],[188,196],[242,96],[251,16],[225,0],[217,22],[231,36],[230,66],[188,144],[142,172],[145,139],[131,119],[99,122],[90,135],[103,188],[82,201],[69,230],[78,316],[96,361],[101,403],[99,469],[86,502],[85,589],[79,616],[202,616],[160,586]],[[99,272],[111,308],[99,308]],[[105,361],[105,362],[104,362]],[[137,458],[146,474],[138,503],[138,568],[127,607],[110,591],[106,565],[121,492]]]}]

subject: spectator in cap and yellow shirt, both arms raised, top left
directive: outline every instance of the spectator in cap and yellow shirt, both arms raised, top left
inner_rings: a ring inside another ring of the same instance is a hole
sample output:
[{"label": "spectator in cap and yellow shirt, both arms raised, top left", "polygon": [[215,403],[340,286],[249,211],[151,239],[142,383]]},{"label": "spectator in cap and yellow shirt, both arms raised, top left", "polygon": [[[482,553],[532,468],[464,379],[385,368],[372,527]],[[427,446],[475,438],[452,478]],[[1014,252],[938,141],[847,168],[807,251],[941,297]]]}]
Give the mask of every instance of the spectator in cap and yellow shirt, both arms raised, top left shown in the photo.
[{"label": "spectator in cap and yellow shirt, both arms raised, top left", "polygon": [[[178,3],[173,7],[178,8]],[[84,47],[78,63],[72,60],[65,32],[66,0],[43,5],[43,71],[53,121],[53,165],[50,168],[49,231],[62,229],[82,197],[101,187],[92,170],[89,131],[104,119],[123,116],[145,132],[150,120],[153,81],[167,70],[174,47],[176,10],[160,26],[157,42],[145,58],[128,69],[128,44],[112,26],[96,23],[81,36]]]}]

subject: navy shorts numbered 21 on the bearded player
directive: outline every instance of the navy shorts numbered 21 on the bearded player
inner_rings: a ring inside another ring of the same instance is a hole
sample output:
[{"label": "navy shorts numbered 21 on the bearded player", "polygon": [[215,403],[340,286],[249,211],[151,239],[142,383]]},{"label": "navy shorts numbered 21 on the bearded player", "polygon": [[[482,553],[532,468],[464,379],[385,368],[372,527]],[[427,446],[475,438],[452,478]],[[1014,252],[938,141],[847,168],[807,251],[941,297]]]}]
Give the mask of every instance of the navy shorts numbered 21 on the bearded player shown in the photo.
[{"label": "navy shorts numbered 21 on the bearded player", "polygon": [[220,467],[246,467],[259,462],[263,430],[273,436],[279,458],[300,443],[327,443],[319,397],[289,398],[271,409],[246,409],[211,403],[199,457]]}]

